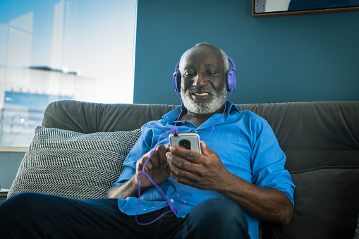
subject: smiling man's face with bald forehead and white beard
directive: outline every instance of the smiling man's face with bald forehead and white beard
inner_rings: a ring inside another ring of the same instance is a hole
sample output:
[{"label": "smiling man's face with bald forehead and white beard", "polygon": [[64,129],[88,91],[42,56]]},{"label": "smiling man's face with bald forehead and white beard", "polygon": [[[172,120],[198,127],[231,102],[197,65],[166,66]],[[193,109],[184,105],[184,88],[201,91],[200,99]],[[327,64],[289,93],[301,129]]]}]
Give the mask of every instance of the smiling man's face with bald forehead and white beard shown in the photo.
[{"label": "smiling man's face with bald forehead and white beard", "polygon": [[214,114],[226,102],[224,63],[216,49],[188,51],[181,69],[181,94],[185,108],[194,114]]}]

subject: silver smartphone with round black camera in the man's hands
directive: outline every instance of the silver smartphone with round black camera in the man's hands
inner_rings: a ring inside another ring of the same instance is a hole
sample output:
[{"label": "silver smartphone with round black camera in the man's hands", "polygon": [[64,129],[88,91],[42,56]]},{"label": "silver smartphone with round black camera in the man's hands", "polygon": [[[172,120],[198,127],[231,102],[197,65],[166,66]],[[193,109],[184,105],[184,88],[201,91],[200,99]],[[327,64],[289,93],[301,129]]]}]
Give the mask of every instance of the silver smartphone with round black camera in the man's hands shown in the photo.
[{"label": "silver smartphone with round black camera in the man's hands", "polygon": [[177,145],[201,153],[200,134],[197,132],[171,133],[169,135],[169,145]]}]

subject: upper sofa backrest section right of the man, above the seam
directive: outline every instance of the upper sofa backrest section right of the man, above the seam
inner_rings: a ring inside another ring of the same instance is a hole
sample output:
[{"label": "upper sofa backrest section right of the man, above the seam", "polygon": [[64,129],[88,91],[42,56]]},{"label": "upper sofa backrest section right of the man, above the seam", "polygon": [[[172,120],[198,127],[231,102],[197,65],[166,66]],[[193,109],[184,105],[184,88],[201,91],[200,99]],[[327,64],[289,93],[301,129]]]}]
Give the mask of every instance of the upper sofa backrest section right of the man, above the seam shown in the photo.
[{"label": "upper sofa backrest section right of the man, above the seam", "polygon": [[359,166],[359,102],[298,102],[238,106],[272,126],[289,171]]}]

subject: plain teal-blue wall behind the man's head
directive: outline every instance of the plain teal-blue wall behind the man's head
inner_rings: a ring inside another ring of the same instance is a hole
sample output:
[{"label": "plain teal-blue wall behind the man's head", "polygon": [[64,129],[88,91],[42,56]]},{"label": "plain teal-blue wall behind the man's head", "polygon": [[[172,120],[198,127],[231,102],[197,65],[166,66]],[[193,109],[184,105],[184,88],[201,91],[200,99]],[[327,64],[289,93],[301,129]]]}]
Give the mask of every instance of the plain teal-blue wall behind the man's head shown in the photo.
[{"label": "plain teal-blue wall behind the man's head", "polygon": [[209,42],[237,67],[237,104],[359,100],[359,12],[256,19],[252,1],[138,0],[134,103],[180,104],[174,67]]}]

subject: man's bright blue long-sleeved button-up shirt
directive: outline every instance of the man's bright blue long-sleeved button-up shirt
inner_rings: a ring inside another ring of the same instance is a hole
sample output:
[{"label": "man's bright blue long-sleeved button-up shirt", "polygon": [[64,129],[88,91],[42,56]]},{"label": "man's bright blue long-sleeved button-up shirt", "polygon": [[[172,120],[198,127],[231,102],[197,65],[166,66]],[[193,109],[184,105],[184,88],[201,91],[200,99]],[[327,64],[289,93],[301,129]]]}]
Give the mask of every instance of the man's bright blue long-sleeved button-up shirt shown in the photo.
[{"label": "man's bright blue long-sleeved button-up shirt", "polygon": [[[151,121],[141,128],[141,136],[124,161],[124,170],[113,187],[121,185],[135,174],[135,166],[143,154],[153,149],[159,136],[173,128],[181,109],[178,107],[165,114],[162,120]],[[183,111],[185,114],[185,109]],[[212,125],[222,114],[215,114],[199,127],[188,121],[178,121],[178,132],[194,132],[205,138],[212,132]],[[169,145],[169,135],[163,135],[159,144]],[[284,192],[293,202],[294,185],[291,176],[284,169],[286,156],[279,147],[272,128],[262,117],[251,111],[239,111],[236,105],[228,102],[224,116],[214,125],[214,133],[205,138],[205,143],[217,152],[227,170],[248,182],[263,188],[276,188]],[[199,190],[169,178],[186,202],[178,198],[176,191],[168,181],[159,185],[167,198],[174,200],[178,210],[178,217],[184,217],[200,202],[212,197],[224,197],[211,190]],[[172,201],[171,200],[171,201]],[[155,187],[145,190],[140,196],[138,214],[152,212],[168,206],[160,192]],[[138,207],[138,198],[128,197],[126,200],[118,198],[118,207],[121,212],[135,215]],[[251,238],[258,238],[258,220],[246,214]]]}]

